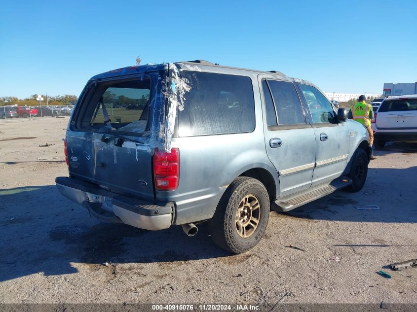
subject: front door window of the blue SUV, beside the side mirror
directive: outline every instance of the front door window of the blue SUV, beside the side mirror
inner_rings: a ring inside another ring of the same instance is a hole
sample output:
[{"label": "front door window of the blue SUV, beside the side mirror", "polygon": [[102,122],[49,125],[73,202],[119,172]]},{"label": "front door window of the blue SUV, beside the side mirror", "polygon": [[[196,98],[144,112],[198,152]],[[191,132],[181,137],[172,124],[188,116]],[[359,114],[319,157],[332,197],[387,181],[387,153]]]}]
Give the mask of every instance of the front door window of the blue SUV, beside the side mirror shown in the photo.
[{"label": "front door window of the blue SUV, beside the side mirror", "polygon": [[333,123],[335,112],[329,100],[313,86],[300,84],[300,87],[310,108],[313,123]]}]

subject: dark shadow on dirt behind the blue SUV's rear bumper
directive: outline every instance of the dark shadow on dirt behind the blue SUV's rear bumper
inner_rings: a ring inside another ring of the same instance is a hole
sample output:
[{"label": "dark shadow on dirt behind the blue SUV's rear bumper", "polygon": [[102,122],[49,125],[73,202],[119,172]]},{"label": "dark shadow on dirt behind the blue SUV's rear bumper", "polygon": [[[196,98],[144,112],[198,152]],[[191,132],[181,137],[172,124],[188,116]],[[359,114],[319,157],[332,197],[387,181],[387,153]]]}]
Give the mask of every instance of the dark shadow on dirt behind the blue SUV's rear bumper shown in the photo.
[{"label": "dark shadow on dirt behind the blue SUV's rear bumper", "polygon": [[0,190],[0,203],[0,281],[76,273],[72,263],[175,263],[230,255],[212,243],[205,225],[188,237],[179,226],[155,232],[101,222],[54,185]]}]

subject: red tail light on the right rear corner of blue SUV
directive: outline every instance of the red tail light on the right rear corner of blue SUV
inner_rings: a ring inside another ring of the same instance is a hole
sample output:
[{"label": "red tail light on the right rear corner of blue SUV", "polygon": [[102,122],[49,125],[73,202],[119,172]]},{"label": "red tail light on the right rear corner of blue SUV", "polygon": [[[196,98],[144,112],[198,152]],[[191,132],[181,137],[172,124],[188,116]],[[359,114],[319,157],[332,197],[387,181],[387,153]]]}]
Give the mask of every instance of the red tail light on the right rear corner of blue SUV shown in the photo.
[{"label": "red tail light on the right rear corner of blue SUV", "polygon": [[171,152],[156,151],[153,155],[153,176],[155,188],[173,191],[180,180],[180,150],[172,148]]}]

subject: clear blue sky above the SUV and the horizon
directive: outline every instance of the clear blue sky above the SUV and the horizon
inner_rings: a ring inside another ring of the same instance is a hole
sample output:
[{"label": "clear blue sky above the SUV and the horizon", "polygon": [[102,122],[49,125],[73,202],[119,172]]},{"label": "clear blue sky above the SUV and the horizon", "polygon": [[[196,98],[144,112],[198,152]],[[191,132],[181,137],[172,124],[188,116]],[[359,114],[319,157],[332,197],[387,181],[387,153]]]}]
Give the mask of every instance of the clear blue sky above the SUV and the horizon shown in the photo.
[{"label": "clear blue sky above the SUV and the horizon", "polygon": [[94,74],[204,59],[324,92],[417,81],[417,1],[3,1],[0,96],[81,92]]}]

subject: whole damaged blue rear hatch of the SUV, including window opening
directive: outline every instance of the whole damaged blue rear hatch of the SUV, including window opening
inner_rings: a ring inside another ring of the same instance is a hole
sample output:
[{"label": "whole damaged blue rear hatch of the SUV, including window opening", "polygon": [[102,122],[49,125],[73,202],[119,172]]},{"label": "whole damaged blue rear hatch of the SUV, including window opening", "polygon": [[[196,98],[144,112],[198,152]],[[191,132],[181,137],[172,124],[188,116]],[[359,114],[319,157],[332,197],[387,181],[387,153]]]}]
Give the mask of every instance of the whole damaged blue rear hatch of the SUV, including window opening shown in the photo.
[{"label": "whole damaged blue rear hatch of the SUV, including window opening", "polygon": [[152,153],[162,144],[164,77],[163,66],[140,66],[89,81],[67,130],[70,176],[116,193],[154,198]]}]

